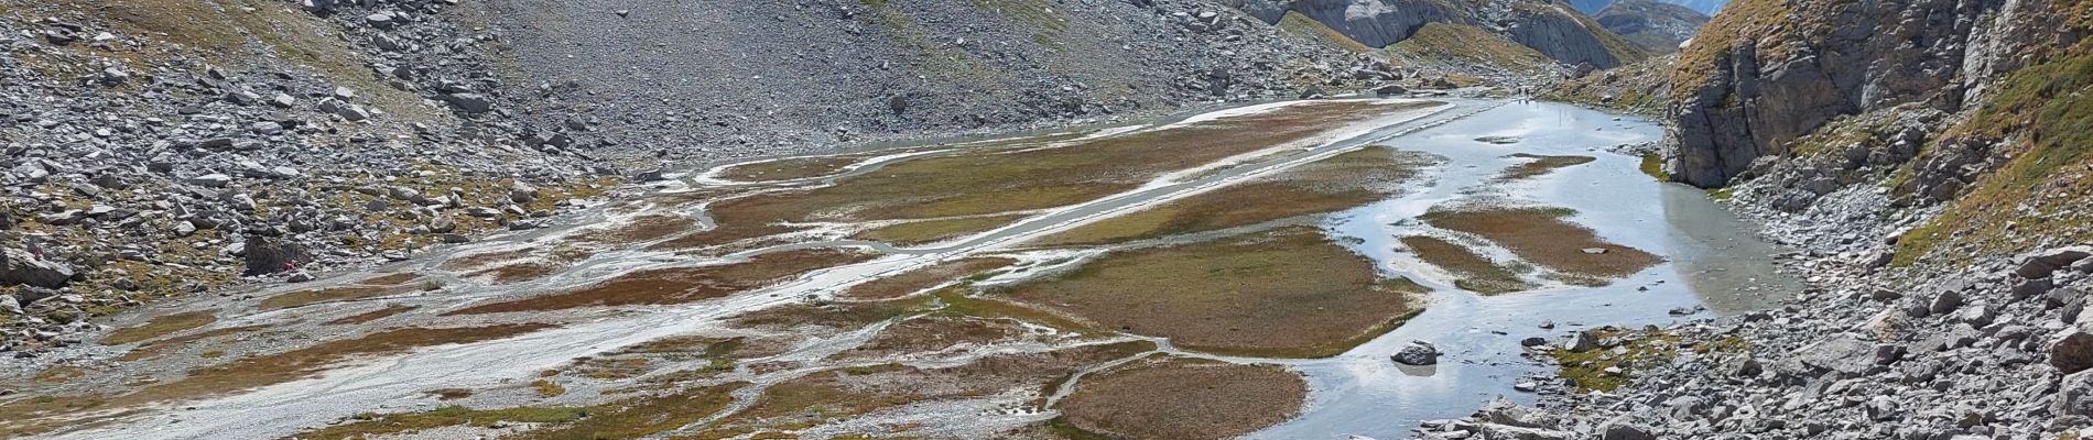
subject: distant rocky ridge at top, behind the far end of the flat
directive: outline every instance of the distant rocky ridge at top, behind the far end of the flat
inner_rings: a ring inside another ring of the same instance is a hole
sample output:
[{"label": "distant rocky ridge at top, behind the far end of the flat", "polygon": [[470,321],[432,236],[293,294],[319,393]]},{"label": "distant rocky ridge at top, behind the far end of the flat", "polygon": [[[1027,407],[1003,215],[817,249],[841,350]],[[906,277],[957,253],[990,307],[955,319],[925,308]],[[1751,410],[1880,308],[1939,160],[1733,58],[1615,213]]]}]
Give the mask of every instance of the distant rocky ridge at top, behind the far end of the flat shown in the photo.
[{"label": "distant rocky ridge at top, behind the far end of the flat", "polygon": [[1645,58],[1635,44],[1559,0],[1233,0],[1266,23],[1300,13],[1365,46],[1409,40],[1427,23],[1490,29],[1563,65],[1610,69]]}]

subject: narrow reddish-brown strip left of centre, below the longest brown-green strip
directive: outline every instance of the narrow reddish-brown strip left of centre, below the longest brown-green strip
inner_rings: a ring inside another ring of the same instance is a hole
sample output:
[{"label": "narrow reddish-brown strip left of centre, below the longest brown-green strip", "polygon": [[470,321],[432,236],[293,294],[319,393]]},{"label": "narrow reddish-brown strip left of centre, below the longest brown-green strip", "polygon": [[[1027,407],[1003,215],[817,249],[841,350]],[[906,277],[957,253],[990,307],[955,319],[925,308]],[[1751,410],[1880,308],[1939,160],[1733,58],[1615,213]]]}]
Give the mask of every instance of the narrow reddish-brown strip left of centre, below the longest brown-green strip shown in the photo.
[{"label": "narrow reddish-brown strip left of centre, below the longest brown-green strip", "polygon": [[565,311],[580,307],[682,304],[787,282],[802,273],[871,261],[877,254],[860,250],[787,250],[758,254],[745,263],[714,267],[672,267],[617,275],[590,288],[544,294],[521,300],[488,302],[444,315]]}]

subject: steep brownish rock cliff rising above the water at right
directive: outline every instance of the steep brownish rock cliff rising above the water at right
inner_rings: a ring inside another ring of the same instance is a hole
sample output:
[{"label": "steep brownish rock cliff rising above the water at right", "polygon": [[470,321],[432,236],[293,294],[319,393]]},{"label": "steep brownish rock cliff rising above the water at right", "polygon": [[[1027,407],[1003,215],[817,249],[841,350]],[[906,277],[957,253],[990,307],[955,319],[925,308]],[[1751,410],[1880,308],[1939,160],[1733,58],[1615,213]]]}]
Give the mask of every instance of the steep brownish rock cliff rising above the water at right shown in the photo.
[{"label": "steep brownish rock cliff rising above the water at right", "polygon": [[2013,23],[1997,17],[2022,8],[2005,0],[1737,2],[1681,56],[1670,171],[1720,186],[1836,117],[1900,104],[1959,111],[1965,90],[1995,79],[1982,73],[2016,56],[1972,44],[2009,35]]}]

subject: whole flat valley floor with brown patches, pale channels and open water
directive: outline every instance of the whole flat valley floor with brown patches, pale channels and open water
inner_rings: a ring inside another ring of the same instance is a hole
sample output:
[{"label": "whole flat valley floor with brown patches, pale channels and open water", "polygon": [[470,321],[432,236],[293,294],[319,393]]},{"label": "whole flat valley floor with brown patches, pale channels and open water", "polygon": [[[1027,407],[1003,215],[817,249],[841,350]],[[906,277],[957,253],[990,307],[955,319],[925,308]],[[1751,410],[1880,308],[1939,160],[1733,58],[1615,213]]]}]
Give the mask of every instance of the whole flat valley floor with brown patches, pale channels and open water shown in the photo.
[{"label": "whole flat valley floor with brown patches, pale channels and open water", "polygon": [[[722,165],[119,317],[8,377],[29,386],[0,432],[1400,438],[1517,398],[1547,373],[1526,336],[1787,290],[1708,194],[1612,152],[1658,136],[1547,102],[1314,100]],[[1390,363],[1411,340],[1442,363]]]}]

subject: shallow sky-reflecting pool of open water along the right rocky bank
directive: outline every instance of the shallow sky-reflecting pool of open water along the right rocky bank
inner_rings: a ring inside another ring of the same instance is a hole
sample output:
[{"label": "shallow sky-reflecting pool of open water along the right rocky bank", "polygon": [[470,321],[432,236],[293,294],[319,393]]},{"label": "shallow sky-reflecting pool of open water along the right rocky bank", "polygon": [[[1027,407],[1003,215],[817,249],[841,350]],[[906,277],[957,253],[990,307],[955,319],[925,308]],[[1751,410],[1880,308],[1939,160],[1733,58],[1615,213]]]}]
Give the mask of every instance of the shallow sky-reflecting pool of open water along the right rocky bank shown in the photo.
[{"label": "shallow sky-reflecting pool of open water along the right rocky bank", "polygon": [[[1513,144],[1476,138],[1509,136]],[[1281,361],[1308,377],[1310,400],[1293,421],[1252,438],[1406,438],[1419,421],[1463,417],[1490,398],[1532,402],[1511,386],[1551,371],[1526,361],[1520,340],[1559,340],[1597,325],[1670,323],[1689,317],[1672,309],[1743,313],[1773,307],[1796,290],[1775,273],[1779,250],[1695,188],[1660,184],[1639,171],[1639,158],[1612,146],[1662,138],[1653,123],[1553,102],[1513,102],[1448,125],[1383,144],[1446,158],[1423,188],[1404,196],[1331,215],[1325,229],[1377,261],[1390,275],[1434,288],[1425,313],[1406,325],[1333,359]],[[1530,154],[1595,156],[1595,163],[1499,184],[1505,167]],[[1532,292],[1478,296],[1402,252],[1400,236],[1419,231],[1432,206],[1457,200],[1576,209],[1572,219],[1601,238],[1666,256],[1666,263],[1605,288],[1553,284]],[[1543,321],[1557,323],[1543,329]],[[1425,340],[1444,357],[1434,367],[1398,367],[1388,357]]]}]

